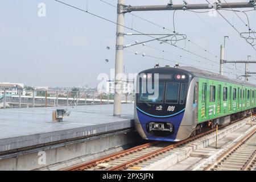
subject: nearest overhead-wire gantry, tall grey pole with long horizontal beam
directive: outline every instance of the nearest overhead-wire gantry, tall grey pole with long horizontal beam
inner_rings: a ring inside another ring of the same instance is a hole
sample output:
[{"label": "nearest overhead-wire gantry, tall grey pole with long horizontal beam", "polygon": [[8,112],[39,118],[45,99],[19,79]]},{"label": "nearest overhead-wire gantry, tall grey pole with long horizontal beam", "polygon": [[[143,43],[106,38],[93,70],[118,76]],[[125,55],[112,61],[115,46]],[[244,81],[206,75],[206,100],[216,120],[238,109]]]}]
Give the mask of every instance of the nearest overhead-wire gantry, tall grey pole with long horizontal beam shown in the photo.
[{"label": "nearest overhead-wire gantry, tall grey pole with long horizontal beam", "polygon": [[[256,8],[255,0],[249,2],[233,2],[233,3],[204,3],[204,4],[188,4],[183,1],[183,5],[174,5],[172,1],[167,5],[152,6],[126,6],[125,0],[118,0],[117,6],[117,40],[115,53],[115,96],[114,96],[114,115],[121,115],[121,96],[122,96],[122,73],[123,73],[123,36],[125,26],[125,14],[132,11],[166,11],[166,10],[205,10],[205,9],[236,9],[236,8]],[[224,50],[223,50],[224,51]],[[224,55],[224,52],[223,54]],[[222,60],[224,57],[222,57]],[[223,60],[224,61],[224,60]],[[222,61],[221,61],[222,63]],[[221,72],[223,69],[221,68]]]}]

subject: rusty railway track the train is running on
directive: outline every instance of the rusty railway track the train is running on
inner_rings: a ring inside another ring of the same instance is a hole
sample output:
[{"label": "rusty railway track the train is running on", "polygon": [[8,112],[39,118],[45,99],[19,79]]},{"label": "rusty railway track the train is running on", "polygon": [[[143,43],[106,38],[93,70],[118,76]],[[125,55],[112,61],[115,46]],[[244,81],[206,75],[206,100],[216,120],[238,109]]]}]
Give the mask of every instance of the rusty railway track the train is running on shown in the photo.
[{"label": "rusty railway track the train is running on", "polygon": [[[241,121],[245,118],[247,117],[237,119],[237,121],[233,121],[229,125],[232,125],[233,123]],[[219,129],[229,125],[221,126]],[[64,169],[64,171],[121,171],[126,169],[141,169],[144,167],[144,164],[155,162],[170,155],[172,150],[175,148],[203,138],[206,135],[214,133],[215,131],[216,129],[212,129],[206,131],[205,133],[196,135],[195,137],[172,144],[167,142],[151,142],[142,144],[140,146],[116,152],[90,162],[69,167]]]}]

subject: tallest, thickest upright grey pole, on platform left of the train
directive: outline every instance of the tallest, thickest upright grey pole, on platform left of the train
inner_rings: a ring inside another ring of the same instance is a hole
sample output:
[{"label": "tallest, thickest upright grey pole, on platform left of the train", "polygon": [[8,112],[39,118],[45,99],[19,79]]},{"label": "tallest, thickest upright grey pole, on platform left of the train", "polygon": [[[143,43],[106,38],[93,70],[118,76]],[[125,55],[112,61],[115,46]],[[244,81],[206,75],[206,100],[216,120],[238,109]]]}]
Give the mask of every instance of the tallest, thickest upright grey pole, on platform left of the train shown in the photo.
[{"label": "tallest, thickest upright grey pole, on platform left of the train", "polygon": [[123,36],[125,33],[125,13],[122,12],[125,0],[118,0],[117,7],[117,39],[115,51],[115,95],[114,116],[121,115],[122,75],[123,75]]}]

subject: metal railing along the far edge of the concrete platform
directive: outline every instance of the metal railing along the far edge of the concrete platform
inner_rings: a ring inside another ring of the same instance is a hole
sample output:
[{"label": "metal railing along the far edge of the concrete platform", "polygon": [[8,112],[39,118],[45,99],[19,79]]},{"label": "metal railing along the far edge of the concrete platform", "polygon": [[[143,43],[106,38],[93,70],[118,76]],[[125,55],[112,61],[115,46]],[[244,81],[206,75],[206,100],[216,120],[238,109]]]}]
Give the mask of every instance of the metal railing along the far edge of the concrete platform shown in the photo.
[{"label": "metal railing along the far edge of the concrete platform", "polygon": [[[122,103],[133,103],[134,94],[123,94]],[[113,104],[114,94],[106,94],[96,91],[38,91],[31,90],[26,95],[6,94],[0,96],[0,109],[14,107],[55,107]]]}]

